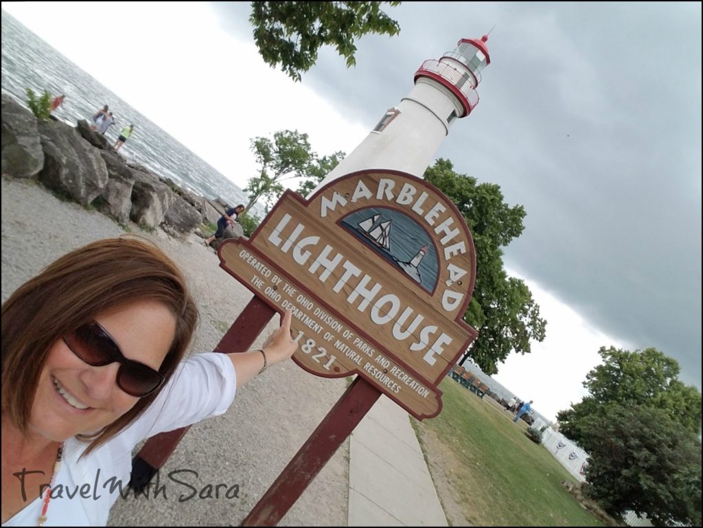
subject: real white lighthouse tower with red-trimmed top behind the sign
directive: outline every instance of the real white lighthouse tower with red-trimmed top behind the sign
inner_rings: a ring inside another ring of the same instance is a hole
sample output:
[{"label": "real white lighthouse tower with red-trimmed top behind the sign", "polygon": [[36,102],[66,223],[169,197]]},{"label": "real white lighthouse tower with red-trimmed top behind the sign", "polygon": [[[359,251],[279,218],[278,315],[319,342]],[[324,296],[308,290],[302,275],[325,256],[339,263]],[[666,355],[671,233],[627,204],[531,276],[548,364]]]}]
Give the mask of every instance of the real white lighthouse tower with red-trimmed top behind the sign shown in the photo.
[{"label": "real white lighthouse tower with red-trimmed top behind the sign", "polygon": [[320,183],[362,169],[394,169],[422,177],[458,117],[479,102],[476,87],[491,63],[486,41],[461,39],[454,51],[428,59],[415,72],[415,86],[389,108],[354,151]]}]

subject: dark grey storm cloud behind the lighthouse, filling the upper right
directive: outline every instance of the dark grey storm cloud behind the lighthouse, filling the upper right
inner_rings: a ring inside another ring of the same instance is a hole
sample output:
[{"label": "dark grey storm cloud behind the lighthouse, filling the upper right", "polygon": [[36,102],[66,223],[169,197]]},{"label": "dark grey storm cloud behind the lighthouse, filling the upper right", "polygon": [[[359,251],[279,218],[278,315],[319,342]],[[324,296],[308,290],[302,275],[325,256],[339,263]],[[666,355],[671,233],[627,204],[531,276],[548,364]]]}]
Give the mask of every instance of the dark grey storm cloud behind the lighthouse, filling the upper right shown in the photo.
[{"label": "dark grey storm cloud behind the lighthouse, filling the upper right", "polygon": [[[214,9],[251,39],[248,4]],[[386,12],[399,37],[363,37],[350,70],[324,49],[304,84],[370,129],[423,60],[496,25],[481,101],[437,157],[524,205],[510,269],[626,346],[674,357],[700,387],[701,5],[407,2]]]}]

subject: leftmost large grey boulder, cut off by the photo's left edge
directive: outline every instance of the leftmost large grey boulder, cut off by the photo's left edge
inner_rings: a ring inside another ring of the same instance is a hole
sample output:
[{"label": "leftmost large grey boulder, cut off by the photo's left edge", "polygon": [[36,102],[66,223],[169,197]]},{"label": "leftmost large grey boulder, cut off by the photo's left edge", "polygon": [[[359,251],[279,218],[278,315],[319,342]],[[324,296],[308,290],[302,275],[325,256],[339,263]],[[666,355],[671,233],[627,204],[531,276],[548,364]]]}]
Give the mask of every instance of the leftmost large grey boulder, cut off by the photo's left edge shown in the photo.
[{"label": "leftmost large grey boulder, cut off by the photo's left edge", "polygon": [[44,167],[37,118],[2,94],[2,173],[16,178],[32,178]]}]

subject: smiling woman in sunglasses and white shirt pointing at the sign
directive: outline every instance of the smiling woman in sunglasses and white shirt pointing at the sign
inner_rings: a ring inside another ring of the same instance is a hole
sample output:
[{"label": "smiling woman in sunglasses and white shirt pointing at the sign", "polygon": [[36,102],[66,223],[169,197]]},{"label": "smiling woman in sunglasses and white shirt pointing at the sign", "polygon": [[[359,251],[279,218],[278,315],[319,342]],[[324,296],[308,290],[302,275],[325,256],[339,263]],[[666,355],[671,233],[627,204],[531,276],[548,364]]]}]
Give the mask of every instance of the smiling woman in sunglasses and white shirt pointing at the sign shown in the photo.
[{"label": "smiling woman in sunglasses and white shirt pointing at the sign", "polygon": [[2,307],[3,525],[105,525],[134,446],[224,413],[295,352],[290,318],[263,349],[183,361],[198,310],[157,247],[101,240],[49,265]]}]

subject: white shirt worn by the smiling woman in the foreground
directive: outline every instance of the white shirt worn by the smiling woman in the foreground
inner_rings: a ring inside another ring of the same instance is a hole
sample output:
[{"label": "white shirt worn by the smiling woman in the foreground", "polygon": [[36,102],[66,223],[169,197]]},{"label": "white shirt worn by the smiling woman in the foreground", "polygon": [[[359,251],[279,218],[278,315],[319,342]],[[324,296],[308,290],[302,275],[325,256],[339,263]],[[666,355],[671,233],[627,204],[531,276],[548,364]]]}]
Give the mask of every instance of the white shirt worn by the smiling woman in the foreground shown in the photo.
[{"label": "white shirt worn by the smiling woman in the foreground", "polygon": [[[44,526],[105,526],[120,498],[120,482],[122,494],[128,492],[134,446],[160,432],[223,414],[234,399],[236,381],[226,354],[192,356],[178,366],[153,404],[109,442],[79,461],[88,444],[68,439]],[[35,499],[2,526],[37,526],[42,503]]]}]

